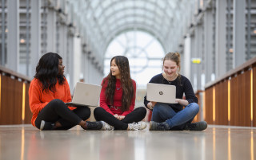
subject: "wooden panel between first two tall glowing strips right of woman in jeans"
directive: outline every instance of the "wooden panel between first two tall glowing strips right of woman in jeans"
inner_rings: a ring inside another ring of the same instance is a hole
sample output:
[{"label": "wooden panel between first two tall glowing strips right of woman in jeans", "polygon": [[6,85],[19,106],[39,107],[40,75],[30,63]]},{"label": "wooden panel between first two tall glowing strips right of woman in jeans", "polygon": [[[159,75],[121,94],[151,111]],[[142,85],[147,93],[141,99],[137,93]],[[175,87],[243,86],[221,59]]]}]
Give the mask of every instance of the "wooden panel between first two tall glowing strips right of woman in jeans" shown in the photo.
[{"label": "wooden panel between first two tall glowing strips right of woman in jeans", "polygon": [[228,125],[228,81],[215,85],[215,124]]}]

